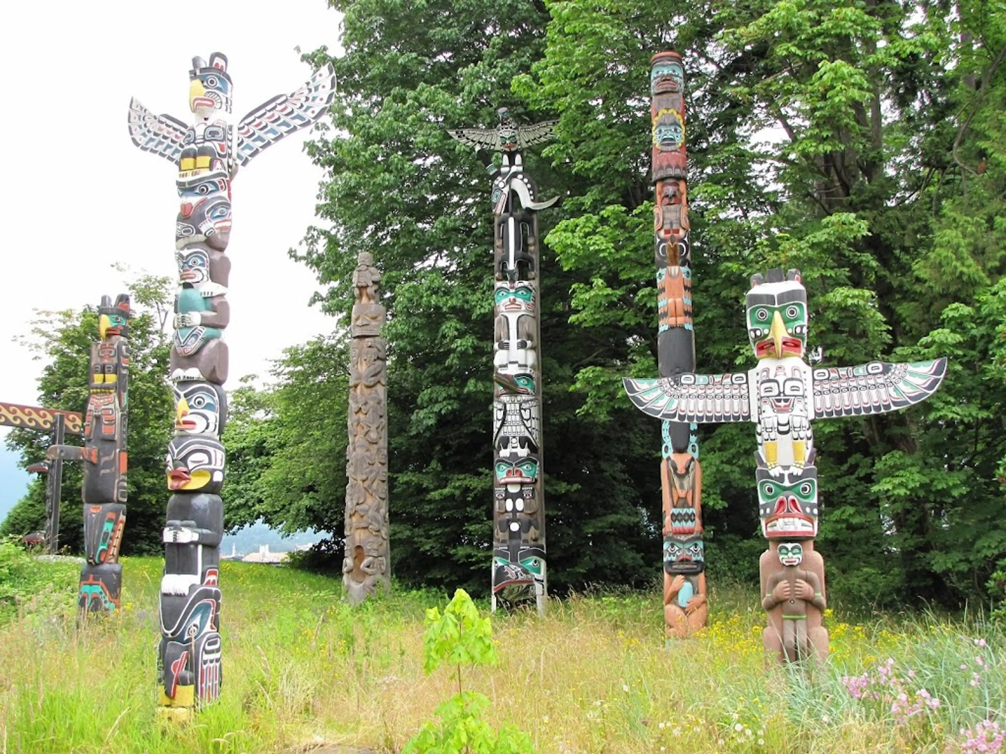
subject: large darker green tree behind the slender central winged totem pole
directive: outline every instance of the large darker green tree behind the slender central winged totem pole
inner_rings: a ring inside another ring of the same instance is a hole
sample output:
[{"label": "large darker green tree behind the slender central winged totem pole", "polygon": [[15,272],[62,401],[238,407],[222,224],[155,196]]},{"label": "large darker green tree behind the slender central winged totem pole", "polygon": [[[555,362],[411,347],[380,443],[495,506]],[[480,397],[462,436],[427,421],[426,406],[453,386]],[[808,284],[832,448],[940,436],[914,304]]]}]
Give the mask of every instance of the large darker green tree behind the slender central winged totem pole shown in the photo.
[{"label": "large darker green tree behind the slender central winged totem pole", "polygon": [[[336,3],[345,13],[336,128],[310,153],[328,171],[321,215],[301,258],[329,286],[327,311],[345,317],[359,251],[382,269],[389,314],[389,500],[398,578],[489,584],[492,453],[492,215],[489,180],[448,128],[492,126],[508,107],[544,120],[511,80],[540,56],[548,13],[540,3],[465,0]],[[416,19],[423,23],[415,23]],[[326,50],[309,56],[330,59]],[[525,155],[552,195],[567,187]],[[542,213],[543,232],[548,213]],[[629,407],[581,420],[572,375],[613,331],[570,328],[567,291],[577,278],[542,250],[545,510],[553,588],[639,582],[659,562],[659,487],[637,489],[645,459],[615,451],[656,446],[658,429]],[[580,275],[582,277],[582,275]],[[345,322],[345,320],[342,320]],[[645,440],[642,438],[646,438]]]}]

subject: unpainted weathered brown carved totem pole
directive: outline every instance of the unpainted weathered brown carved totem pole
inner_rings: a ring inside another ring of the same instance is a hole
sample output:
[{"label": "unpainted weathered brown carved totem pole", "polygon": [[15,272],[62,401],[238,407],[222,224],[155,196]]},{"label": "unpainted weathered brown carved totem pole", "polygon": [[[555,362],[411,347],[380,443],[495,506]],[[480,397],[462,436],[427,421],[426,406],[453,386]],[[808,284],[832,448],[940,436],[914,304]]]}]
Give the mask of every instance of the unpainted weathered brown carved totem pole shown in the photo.
[{"label": "unpainted weathered brown carved totem pole", "polygon": [[387,522],[387,374],[380,272],[366,251],[357,257],[349,358],[349,445],[346,448],[346,557],[342,582],[350,603],[387,588],[391,558]]}]

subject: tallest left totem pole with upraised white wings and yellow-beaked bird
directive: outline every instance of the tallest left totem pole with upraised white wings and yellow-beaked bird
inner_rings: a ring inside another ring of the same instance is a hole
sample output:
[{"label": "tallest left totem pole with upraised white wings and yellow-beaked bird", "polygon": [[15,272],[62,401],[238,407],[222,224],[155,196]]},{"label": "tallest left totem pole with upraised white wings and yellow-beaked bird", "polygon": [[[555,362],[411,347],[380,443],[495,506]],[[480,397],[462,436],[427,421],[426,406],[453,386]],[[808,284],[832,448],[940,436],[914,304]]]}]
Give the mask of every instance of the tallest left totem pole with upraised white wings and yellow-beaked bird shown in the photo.
[{"label": "tallest left totem pole with upraised white wings and yellow-beaked bird", "polygon": [[178,167],[175,224],[179,289],[170,378],[175,436],[168,443],[168,500],[161,580],[159,712],[188,720],[220,693],[220,539],[223,536],[227,345],[230,321],[230,183],[239,167],[288,134],[321,118],[335,96],[331,65],[291,95],[275,97],[230,125],[227,58],[192,58],[191,126],[130,103],[133,143]]}]

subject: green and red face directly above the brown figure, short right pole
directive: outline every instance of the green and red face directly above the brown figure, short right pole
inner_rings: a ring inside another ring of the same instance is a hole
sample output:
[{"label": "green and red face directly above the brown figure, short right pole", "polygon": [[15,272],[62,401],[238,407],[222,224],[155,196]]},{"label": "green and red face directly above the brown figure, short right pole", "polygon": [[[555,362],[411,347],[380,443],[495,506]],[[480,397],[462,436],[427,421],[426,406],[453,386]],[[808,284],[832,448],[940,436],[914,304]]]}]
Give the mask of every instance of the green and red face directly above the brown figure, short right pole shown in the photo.
[{"label": "green and red face directly above the brown figure, short right pole", "polygon": [[817,468],[754,469],[759,517],[767,539],[811,539],[818,531]]}]

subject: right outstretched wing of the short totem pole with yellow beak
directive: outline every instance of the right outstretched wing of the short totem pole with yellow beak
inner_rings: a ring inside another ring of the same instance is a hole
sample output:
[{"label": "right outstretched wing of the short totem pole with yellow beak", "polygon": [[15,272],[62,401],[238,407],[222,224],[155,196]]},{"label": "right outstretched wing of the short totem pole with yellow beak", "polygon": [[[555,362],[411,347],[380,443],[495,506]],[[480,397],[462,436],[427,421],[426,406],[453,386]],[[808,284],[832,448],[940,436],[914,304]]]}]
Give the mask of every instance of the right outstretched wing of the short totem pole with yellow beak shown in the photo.
[{"label": "right outstretched wing of the short totem pole with yellow beak", "polygon": [[933,395],[946,374],[946,359],[815,369],[814,417],[896,411]]}]

